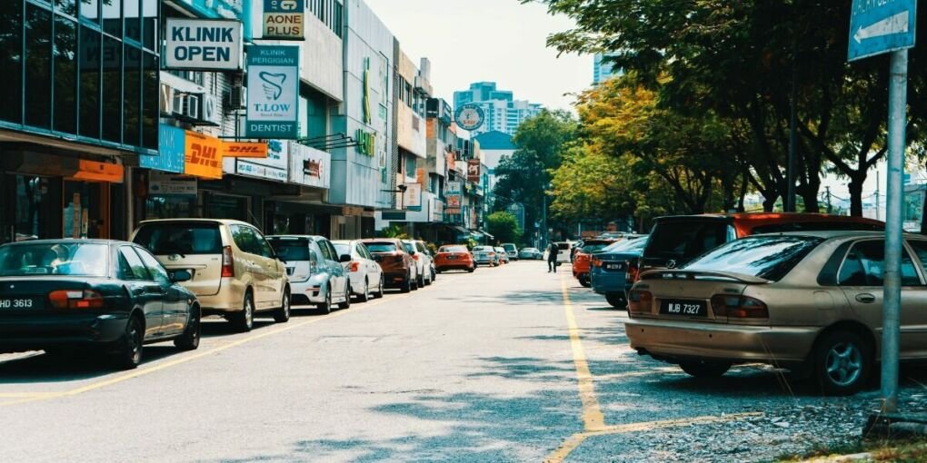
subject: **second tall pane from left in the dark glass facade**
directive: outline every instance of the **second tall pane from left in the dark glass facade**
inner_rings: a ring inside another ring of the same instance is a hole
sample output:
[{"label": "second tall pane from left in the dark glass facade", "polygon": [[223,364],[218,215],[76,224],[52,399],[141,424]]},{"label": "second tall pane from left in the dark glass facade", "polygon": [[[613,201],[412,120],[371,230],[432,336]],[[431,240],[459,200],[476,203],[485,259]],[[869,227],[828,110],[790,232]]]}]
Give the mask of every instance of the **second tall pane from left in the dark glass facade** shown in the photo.
[{"label": "second tall pane from left in the dark glass facade", "polygon": [[[52,14],[26,5],[26,124],[51,128]],[[6,69],[4,69],[6,72]],[[5,83],[6,85],[6,83]]]}]

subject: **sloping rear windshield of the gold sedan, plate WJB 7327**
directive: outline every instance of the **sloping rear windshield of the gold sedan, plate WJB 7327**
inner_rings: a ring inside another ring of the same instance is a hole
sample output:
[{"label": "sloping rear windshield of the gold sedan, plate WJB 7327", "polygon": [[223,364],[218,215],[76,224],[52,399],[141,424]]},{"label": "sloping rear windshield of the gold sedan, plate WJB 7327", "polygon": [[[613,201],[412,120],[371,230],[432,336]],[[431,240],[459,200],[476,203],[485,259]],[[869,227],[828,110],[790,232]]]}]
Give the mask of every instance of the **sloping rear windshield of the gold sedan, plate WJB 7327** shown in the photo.
[{"label": "sloping rear windshield of the gold sedan, plate WJB 7327", "polygon": [[823,241],[810,236],[747,237],[723,244],[683,269],[730,271],[776,282]]}]

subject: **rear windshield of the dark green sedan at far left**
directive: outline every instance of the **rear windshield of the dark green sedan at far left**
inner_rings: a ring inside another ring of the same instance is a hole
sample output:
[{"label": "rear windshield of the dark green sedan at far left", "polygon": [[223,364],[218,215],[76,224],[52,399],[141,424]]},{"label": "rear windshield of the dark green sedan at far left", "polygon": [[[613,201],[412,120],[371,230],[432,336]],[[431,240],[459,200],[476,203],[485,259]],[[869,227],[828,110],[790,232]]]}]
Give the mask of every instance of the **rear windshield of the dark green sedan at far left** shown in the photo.
[{"label": "rear windshield of the dark green sedan at far left", "polygon": [[105,277],[109,246],[88,243],[11,244],[0,247],[0,276]]}]

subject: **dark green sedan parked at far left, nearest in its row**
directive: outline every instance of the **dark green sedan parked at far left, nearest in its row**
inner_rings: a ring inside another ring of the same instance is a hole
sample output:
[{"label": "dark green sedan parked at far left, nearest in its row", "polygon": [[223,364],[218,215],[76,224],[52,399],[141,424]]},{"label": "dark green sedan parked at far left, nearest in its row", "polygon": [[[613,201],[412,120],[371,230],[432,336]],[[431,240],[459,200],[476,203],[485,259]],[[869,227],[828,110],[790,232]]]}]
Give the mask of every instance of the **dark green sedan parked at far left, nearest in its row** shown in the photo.
[{"label": "dark green sedan parked at far left, nearest in its row", "polygon": [[144,344],[199,346],[196,294],[136,244],[40,240],[0,245],[0,352],[102,347],[120,368]]}]

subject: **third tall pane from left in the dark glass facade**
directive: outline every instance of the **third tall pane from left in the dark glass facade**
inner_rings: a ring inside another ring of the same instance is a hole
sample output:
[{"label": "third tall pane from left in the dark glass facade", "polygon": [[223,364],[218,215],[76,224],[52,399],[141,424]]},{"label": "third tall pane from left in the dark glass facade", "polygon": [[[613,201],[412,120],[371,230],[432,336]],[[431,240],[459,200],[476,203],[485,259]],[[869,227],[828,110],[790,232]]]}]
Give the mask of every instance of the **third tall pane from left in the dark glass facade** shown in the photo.
[{"label": "third tall pane from left in the dark glass facade", "polygon": [[55,17],[56,131],[77,133],[77,23]]}]

